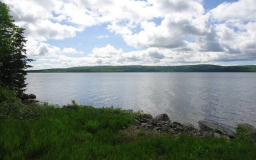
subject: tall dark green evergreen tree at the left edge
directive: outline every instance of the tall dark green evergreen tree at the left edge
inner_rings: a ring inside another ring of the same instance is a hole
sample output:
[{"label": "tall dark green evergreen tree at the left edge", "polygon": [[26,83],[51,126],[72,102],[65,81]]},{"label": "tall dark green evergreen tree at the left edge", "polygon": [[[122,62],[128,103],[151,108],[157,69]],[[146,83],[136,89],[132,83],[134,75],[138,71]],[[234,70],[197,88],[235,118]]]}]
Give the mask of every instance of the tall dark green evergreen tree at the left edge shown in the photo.
[{"label": "tall dark green evergreen tree at the left edge", "polygon": [[28,62],[23,36],[24,29],[16,26],[9,14],[8,6],[0,2],[0,87],[16,91],[25,90]]}]

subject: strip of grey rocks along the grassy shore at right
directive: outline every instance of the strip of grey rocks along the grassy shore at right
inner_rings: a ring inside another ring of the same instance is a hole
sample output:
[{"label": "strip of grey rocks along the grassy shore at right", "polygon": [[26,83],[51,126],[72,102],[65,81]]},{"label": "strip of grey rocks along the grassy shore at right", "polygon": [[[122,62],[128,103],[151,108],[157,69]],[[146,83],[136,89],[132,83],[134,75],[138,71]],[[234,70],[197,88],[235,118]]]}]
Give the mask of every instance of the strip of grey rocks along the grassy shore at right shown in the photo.
[{"label": "strip of grey rocks along the grassy shore at right", "polygon": [[[234,139],[235,132],[226,128],[223,124],[216,123],[210,120],[200,120],[198,122],[199,128],[194,127],[190,123],[181,124],[179,122],[172,122],[167,114],[160,114],[153,118],[150,114],[143,114],[143,118],[136,118],[139,126],[159,133],[172,133],[174,135],[186,133],[199,137],[222,137],[227,139]],[[250,124],[238,124],[237,128],[242,128],[243,132],[248,132],[251,137],[256,140],[256,129]]]}]

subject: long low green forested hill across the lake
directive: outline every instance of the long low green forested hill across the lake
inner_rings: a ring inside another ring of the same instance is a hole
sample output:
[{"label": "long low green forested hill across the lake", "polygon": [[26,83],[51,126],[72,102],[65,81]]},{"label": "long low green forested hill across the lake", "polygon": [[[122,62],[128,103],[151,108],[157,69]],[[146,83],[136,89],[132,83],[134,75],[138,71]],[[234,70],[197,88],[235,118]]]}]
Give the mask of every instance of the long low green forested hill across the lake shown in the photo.
[{"label": "long low green forested hill across the lake", "polygon": [[256,72],[256,65],[250,66],[86,66],[72,68],[56,68],[30,70],[28,72]]}]

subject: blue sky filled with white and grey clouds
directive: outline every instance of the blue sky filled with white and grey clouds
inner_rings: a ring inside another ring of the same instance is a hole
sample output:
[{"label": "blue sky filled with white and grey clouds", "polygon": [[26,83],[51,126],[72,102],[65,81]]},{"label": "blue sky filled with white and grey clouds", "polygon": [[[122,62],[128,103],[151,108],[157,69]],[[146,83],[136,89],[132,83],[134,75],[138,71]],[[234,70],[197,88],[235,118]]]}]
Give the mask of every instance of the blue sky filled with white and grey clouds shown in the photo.
[{"label": "blue sky filled with white and grey clouds", "polygon": [[0,0],[33,69],[256,64],[256,0]]}]

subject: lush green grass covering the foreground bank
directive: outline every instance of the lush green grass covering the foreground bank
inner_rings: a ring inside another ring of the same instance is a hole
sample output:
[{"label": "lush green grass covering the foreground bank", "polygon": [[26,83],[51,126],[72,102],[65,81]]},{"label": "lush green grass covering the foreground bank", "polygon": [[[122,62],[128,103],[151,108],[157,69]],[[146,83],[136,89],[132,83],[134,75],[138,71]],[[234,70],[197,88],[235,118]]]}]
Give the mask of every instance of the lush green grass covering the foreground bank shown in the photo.
[{"label": "lush green grass covering the foreground bank", "polygon": [[130,110],[10,100],[0,102],[0,160],[256,159],[256,144],[247,138],[152,134],[138,129],[141,114]]}]

